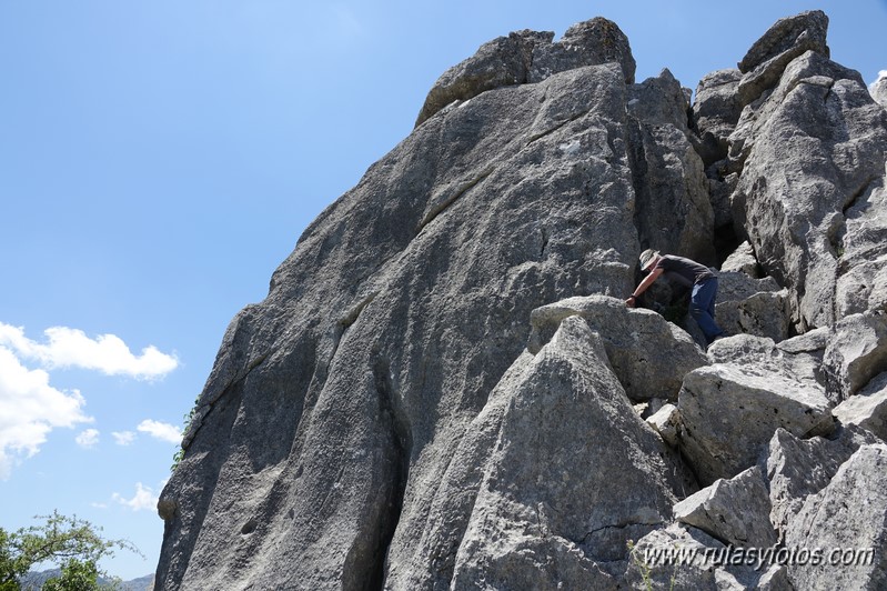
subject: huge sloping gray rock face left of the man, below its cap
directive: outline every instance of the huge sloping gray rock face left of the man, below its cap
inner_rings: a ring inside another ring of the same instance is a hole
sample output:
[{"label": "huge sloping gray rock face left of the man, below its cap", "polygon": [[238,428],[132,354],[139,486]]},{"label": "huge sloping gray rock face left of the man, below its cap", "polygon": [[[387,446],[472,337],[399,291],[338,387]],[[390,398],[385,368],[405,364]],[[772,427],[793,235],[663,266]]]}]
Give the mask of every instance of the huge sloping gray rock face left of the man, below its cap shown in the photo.
[{"label": "huge sloping gray rock face left of the man, below its cap", "polygon": [[478,94],[309,227],[200,397],[160,585],[350,588],[425,553],[412,532],[530,312],[634,288],[624,92],[604,64]]}]

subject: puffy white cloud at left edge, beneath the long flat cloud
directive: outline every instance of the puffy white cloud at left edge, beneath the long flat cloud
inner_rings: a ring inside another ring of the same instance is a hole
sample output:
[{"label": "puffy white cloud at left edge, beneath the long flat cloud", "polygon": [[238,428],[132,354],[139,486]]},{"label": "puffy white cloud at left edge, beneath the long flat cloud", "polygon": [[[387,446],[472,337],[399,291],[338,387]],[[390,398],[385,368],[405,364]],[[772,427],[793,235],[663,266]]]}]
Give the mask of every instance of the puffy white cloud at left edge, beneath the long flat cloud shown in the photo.
[{"label": "puffy white cloud at left edge, beneath the long flat cloud", "polygon": [[40,451],[52,429],[92,421],[83,404],[79,391],[52,388],[46,371],[26,368],[0,341],[0,480]]}]

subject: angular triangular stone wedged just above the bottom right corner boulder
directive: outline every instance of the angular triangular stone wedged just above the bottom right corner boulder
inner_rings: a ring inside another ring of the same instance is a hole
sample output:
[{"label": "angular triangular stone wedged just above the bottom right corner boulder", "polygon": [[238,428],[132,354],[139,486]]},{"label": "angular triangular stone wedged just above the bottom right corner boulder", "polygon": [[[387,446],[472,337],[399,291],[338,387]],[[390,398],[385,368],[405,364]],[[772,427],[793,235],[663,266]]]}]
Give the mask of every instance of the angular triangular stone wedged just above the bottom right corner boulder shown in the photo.
[{"label": "angular triangular stone wedged just above the bottom right corner boulder", "polygon": [[777,429],[769,442],[766,467],[770,491],[770,523],[785,541],[785,532],[798,514],[807,497],[816,494],[831,481],[838,468],[860,445],[875,443],[870,433],[849,427],[834,439],[800,439]]}]

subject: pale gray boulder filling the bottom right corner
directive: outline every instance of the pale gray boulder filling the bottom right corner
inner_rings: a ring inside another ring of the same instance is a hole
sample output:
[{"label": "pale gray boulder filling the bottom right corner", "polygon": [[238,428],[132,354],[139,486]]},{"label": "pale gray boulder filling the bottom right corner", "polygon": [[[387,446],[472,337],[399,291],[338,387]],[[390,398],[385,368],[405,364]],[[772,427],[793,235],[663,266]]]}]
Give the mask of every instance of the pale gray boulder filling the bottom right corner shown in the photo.
[{"label": "pale gray boulder filling the bottom right corner", "polygon": [[860,447],[805,500],[785,543],[823,550],[819,563],[788,565],[795,589],[887,588],[887,445]]}]

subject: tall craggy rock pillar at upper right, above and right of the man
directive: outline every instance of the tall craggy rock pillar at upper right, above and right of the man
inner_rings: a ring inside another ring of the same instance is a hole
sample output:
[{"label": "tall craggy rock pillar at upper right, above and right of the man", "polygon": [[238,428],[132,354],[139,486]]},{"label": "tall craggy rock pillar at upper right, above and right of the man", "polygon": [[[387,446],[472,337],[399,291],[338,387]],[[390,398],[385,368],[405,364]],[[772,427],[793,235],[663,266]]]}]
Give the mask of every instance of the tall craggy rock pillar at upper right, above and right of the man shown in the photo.
[{"label": "tall craggy rock pillar at upper right, above and right of the man", "polygon": [[812,51],[743,111],[730,136],[730,160],[742,169],[734,222],[767,274],[789,288],[799,332],[838,319],[837,279],[857,264],[839,263],[841,243],[860,232],[845,223],[845,210],[884,176],[885,150],[887,111],[859,73]]}]

